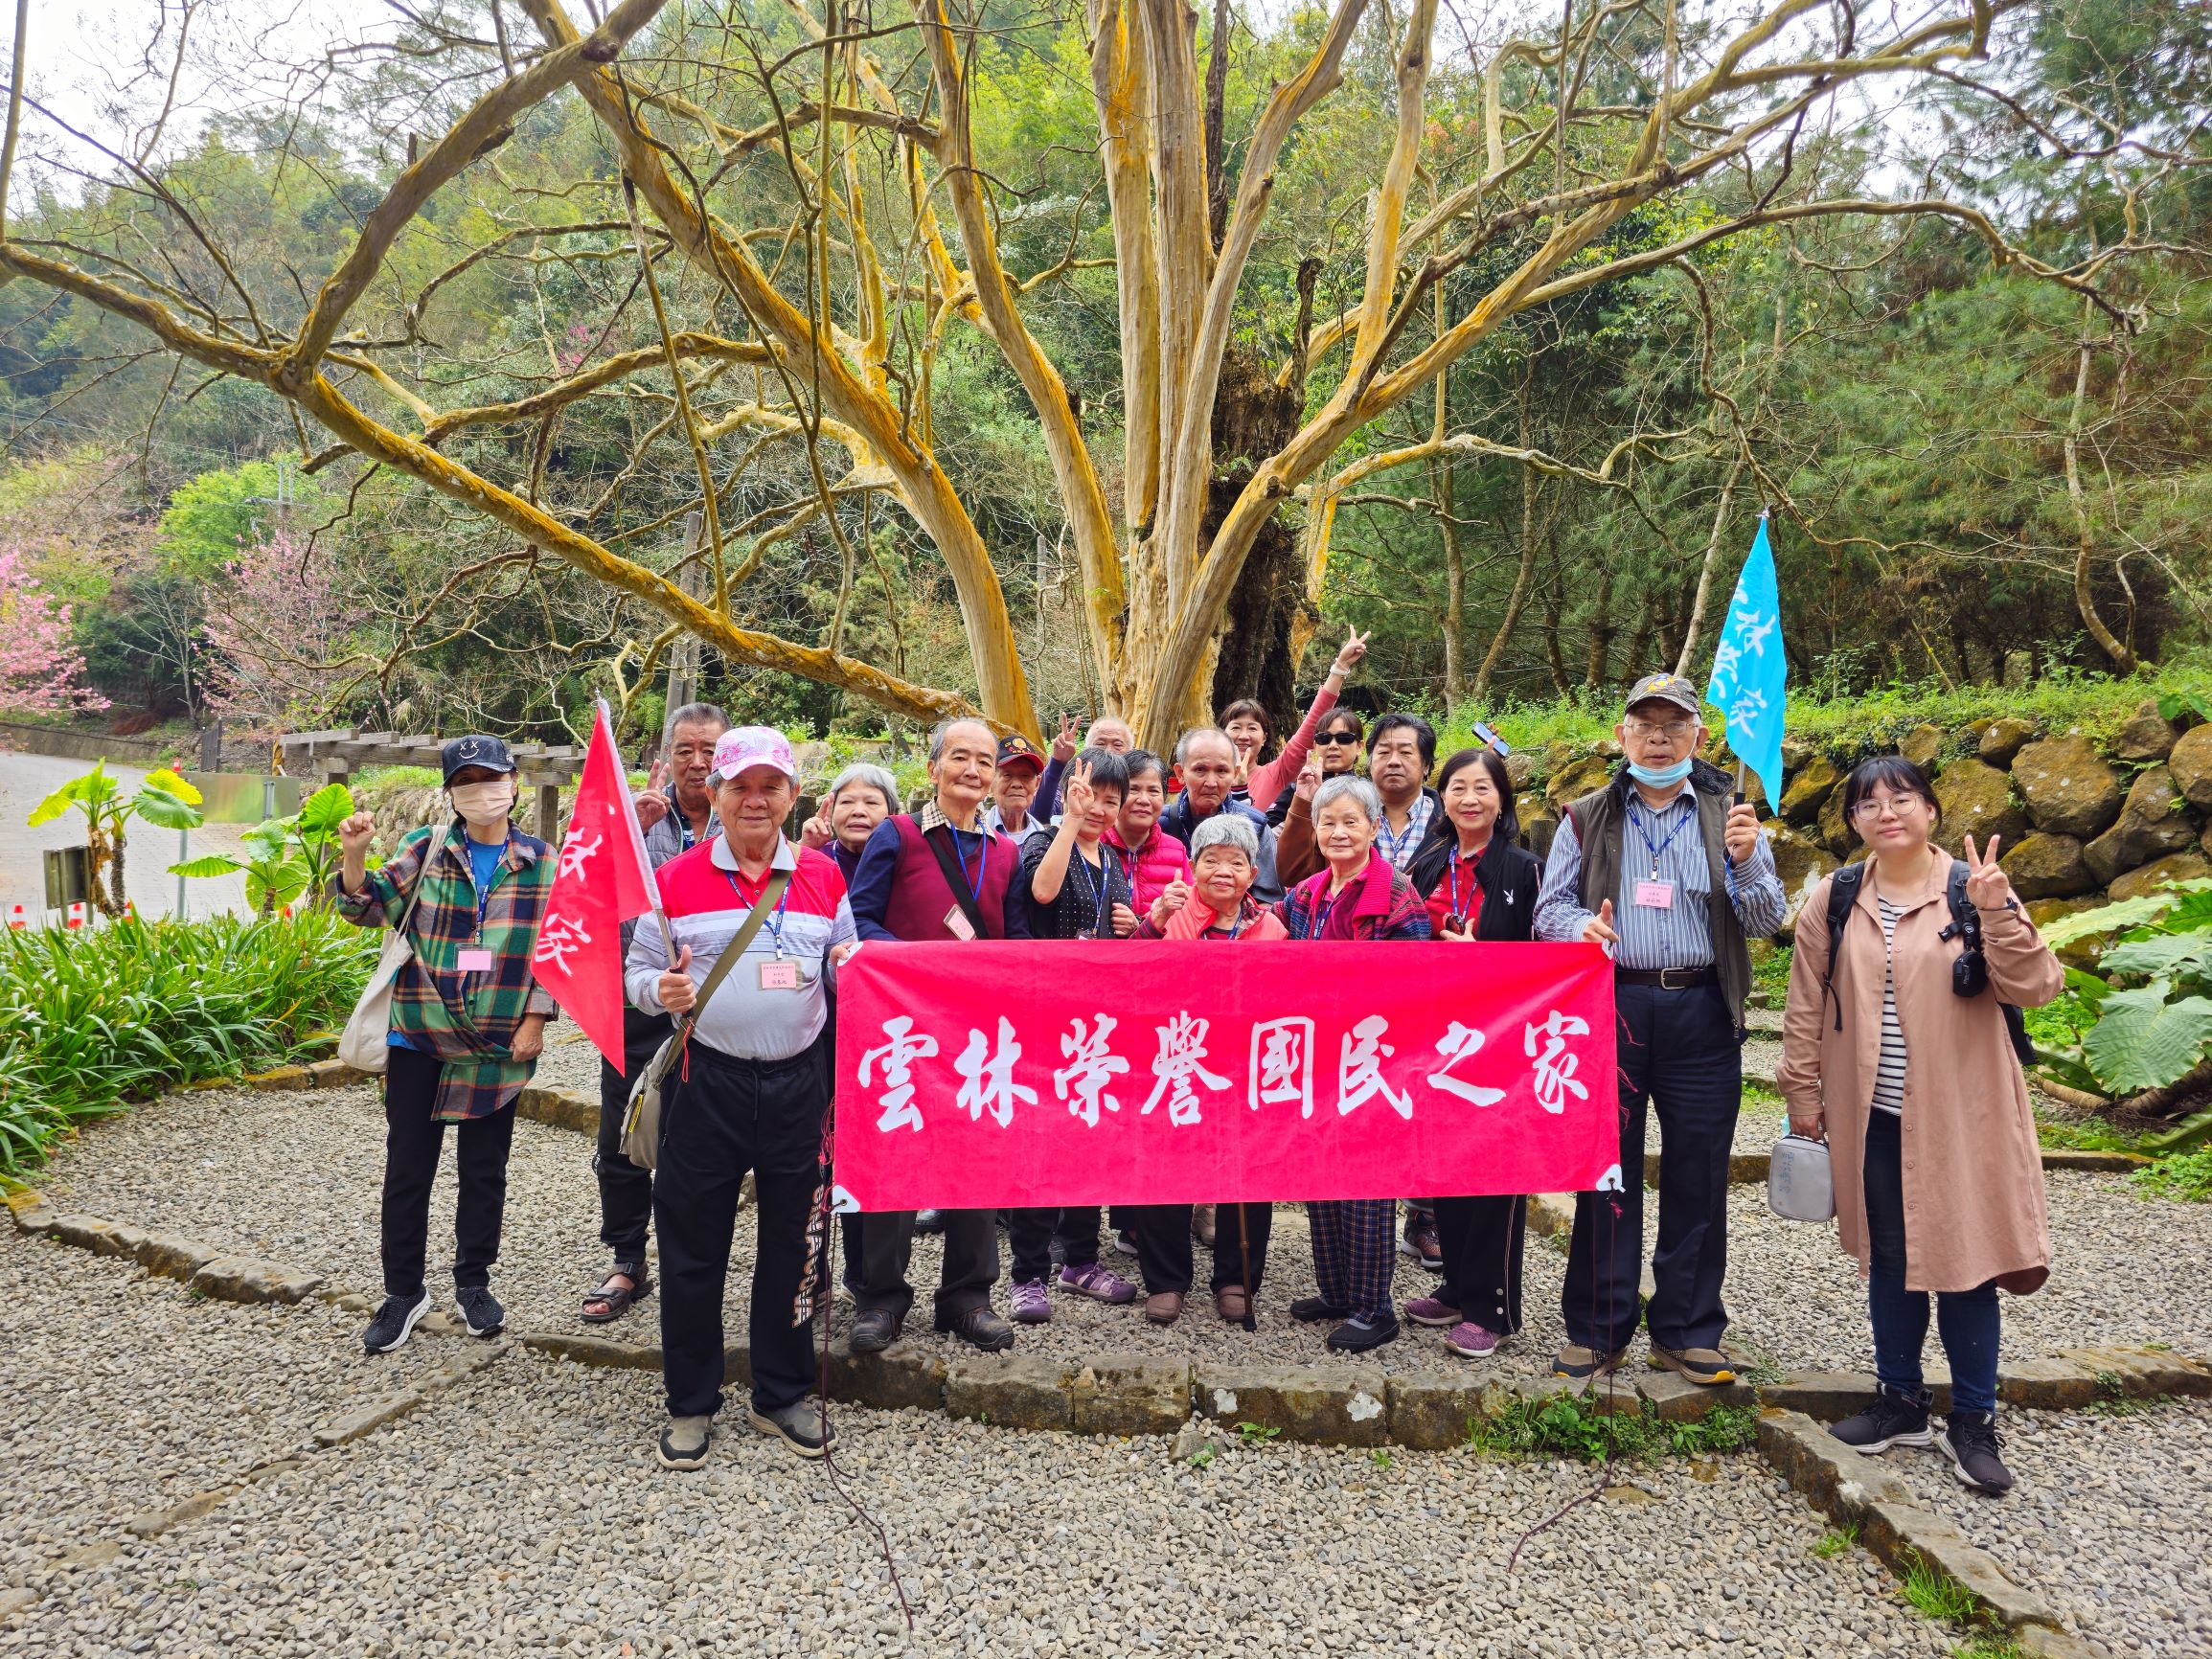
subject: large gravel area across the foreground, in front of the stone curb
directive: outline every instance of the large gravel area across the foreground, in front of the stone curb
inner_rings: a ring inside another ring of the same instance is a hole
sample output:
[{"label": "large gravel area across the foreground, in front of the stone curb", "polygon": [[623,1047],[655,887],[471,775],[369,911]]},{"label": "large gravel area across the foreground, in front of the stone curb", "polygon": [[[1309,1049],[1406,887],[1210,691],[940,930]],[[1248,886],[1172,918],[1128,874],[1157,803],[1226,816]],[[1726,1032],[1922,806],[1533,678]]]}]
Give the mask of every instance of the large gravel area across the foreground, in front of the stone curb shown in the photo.
[{"label": "large gravel area across the foreground, in front of the stone curb", "polygon": [[[854,1411],[845,1482],[889,1533],[909,1637],[874,1533],[818,1467],[737,1425],[703,1473],[661,1473],[655,1411],[650,1378],[511,1354],[204,1524],[53,1575],[0,1652],[1940,1659],[1951,1641],[1867,1555],[1814,1557],[1820,1520],[1752,1458],[1637,1469],[1509,1575],[1588,1471],[1285,1444],[1194,1469],[1168,1440]],[[1606,1606],[1595,1575],[1635,1590]]]}]

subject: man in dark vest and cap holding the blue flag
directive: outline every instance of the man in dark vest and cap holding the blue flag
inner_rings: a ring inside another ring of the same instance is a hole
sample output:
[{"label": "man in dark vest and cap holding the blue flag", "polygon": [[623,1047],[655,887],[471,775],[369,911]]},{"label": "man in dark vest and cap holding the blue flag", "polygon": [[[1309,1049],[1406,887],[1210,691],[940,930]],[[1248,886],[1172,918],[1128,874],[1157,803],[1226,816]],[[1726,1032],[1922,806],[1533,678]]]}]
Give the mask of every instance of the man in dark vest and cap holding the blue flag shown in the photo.
[{"label": "man in dark vest and cap holding the blue flag", "polygon": [[1613,728],[1628,761],[1568,803],[1535,902],[1540,940],[1590,940],[1615,960],[1621,1161],[1610,1190],[1575,1201],[1566,1256],[1566,1347],[1557,1376],[1615,1369],[1637,1329],[1644,1265],[1644,1124],[1659,1110],[1659,1243],[1646,1310],[1650,1360],[1692,1383],[1732,1383],[1728,1152],[1743,1099],[1747,940],[1781,927],[1785,896],[1750,805],[1730,805],[1705,741],[1697,686],[1646,675]]}]

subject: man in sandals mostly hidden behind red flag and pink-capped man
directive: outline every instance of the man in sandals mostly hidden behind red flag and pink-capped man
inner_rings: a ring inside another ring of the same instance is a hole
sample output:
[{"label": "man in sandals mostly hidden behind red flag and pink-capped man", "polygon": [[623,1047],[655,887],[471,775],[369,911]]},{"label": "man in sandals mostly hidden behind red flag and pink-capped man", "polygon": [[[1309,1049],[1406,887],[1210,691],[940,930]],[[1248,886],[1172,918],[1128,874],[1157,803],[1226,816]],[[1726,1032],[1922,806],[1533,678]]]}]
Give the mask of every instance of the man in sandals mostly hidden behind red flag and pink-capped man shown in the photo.
[{"label": "man in sandals mostly hidden behind red flag and pink-capped man", "polygon": [[[646,858],[655,869],[721,834],[708,772],[714,765],[714,743],[726,730],[730,717],[714,703],[684,703],[668,717],[668,759],[655,761],[653,783],[637,796],[637,823],[646,830]],[[633,938],[637,922],[628,920],[622,925],[624,958]],[[653,1294],[653,1279],[646,1274],[653,1170],[637,1168],[622,1150],[622,1124],[630,1115],[630,1084],[653,1064],[670,1029],[666,1013],[624,1002],[624,1068],[615,1071],[599,1060],[599,1141],[591,1155],[591,1172],[599,1179],[599,1243],[613,1254],[613,1265],[584,1292],[580,1316],[586,1325],[608,1325]]]}]

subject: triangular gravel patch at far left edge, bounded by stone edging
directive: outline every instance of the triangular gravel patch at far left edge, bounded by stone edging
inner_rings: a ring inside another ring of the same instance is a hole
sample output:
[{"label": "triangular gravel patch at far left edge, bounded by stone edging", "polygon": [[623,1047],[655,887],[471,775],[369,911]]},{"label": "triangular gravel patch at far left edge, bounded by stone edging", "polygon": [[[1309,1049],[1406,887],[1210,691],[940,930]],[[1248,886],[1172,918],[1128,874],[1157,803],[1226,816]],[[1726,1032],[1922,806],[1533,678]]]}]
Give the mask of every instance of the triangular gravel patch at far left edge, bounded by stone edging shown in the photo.
[{"label": "triangular gravel patch at far left edge, bounded by stone edging", "polygon": [[440,1363],[409,1345],[365,1371],[354,1316],[325,1303],[201,1301],[13,1228],[0,1234],[0,1588],[290,1455],[341,1409]]}]

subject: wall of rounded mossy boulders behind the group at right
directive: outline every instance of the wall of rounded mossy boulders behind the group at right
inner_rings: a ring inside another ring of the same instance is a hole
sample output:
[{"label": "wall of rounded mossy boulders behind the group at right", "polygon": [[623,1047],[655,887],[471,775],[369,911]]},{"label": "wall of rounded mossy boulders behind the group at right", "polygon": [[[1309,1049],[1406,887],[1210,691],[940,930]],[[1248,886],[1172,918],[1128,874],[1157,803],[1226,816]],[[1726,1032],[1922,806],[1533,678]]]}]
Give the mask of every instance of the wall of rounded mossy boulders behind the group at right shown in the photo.
[{"label": "wall of rounded mossy boulders behind the group at right", "polygon": [[[2168,880],[2212,876],[2212,726],[2168,721],[2143,703],[2110,743],[2079,730],[2044,730],[2026,719],[1920,726],[1896,745],[1936,774],[1953,854],[2002,836],[2000,860],[2042,922],[2106,898],[2132,898]],[[1721,754],[1708,759],[1723,761]],[[1843,779],[1858,754],[1803,739],[1783,743],[1781,803],[1756,794],[1792,898],[1865,847],[1843,821]],[[1559,807],[1597,787],[1619,761],[1619,743],[1597,750],[1553,745],[1509,761],[1528,845],[1548,849]],[[1732,765],[1732,761],[1728,761]]]}]

